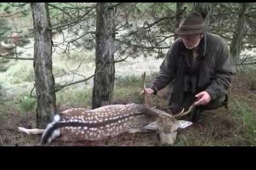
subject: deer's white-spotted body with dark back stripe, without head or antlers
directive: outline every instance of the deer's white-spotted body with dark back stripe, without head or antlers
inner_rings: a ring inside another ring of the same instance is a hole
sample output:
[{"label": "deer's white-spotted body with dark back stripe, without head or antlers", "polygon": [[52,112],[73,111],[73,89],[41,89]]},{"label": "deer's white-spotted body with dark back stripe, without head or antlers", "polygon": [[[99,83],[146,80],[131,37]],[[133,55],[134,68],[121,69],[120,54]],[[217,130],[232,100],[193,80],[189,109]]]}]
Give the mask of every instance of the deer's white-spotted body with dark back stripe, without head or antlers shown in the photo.
[{"label": "deer's white-spotted body with dark back stripe, without head or antlers", "polygon": [[56,115],[42,135],[42,143],[60,137],[64,141],[101,140],[142,128],[154,121],[140,104],[108,105],[97,109],[67,109]]}]

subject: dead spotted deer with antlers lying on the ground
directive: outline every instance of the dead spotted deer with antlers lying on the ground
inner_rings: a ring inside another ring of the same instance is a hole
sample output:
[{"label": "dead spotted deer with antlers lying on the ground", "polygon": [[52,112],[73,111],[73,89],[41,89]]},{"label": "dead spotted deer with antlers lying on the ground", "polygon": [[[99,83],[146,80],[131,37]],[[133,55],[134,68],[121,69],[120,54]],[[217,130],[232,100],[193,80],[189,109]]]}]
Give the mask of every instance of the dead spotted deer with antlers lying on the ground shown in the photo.
[{"label": "dead spotted deer with antlers lying on the ground", "polygon": [[[145,89],[145,73],[142,76]],[[192,124],[177,118],[188,114],[184,109],[177,115],[149,107],[144,93],[145,104],[107,105],[97,109],[72,108],[64,110],[53,117],[46,129],[25,129],[26,134],[42,134],[41,144],[51,143],[58,138],[62,141],[101,140],[123,133],[137,133],[145,130],[158,130],[162,145],[173,145],[177,130]]]}]

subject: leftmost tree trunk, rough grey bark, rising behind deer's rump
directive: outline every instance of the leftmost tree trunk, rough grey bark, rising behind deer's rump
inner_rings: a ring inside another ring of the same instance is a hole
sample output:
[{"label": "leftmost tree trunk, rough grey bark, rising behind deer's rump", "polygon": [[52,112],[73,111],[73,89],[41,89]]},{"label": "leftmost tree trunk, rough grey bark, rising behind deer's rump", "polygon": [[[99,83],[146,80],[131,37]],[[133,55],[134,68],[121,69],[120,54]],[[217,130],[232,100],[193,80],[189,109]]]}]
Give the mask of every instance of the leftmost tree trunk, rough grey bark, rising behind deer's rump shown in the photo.
[{"label": "leftmost tree trunk, rough grey bark, rising behind deer's rump", "polygon": [[45,128],[55,113],[54,77],[52,74],[52,32],[48,3],[31,3],[34,24],[34,71],[37,92],[37,128]]}]

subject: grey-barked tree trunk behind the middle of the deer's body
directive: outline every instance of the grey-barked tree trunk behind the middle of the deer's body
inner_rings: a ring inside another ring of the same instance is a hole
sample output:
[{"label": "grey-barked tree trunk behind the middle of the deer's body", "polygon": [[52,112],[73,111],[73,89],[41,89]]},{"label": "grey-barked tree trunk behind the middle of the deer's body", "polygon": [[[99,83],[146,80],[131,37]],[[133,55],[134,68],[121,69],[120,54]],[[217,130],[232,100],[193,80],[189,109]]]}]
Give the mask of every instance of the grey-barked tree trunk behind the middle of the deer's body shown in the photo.
[{"label": "grey-barked tree trunk behind the middle of the deer's body", "polygon": [[[98,3],[96,18],[96,69],[93,79],[92,109],[111,103],[115,80],[115,11],[112,3]],[[99,73],[98,73],[99,72]]]}]

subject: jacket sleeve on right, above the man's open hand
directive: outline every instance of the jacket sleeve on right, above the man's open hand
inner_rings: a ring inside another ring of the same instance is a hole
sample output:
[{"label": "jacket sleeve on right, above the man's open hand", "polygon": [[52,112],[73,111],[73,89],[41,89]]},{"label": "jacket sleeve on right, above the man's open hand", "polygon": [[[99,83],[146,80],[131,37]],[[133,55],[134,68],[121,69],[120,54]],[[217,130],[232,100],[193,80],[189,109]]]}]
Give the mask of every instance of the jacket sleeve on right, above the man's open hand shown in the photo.
[{"label": "jacket sleeve on right, above the man's open hand", "polygon": [[234,61],[231,58],[227,45],[224,43],[223,48],[219,51],[217,56],[215,75],[212,78],[212,83],[205,90],[212,100],[228,93],[228,88],[230,87],[235,73],[236,68]]}]

